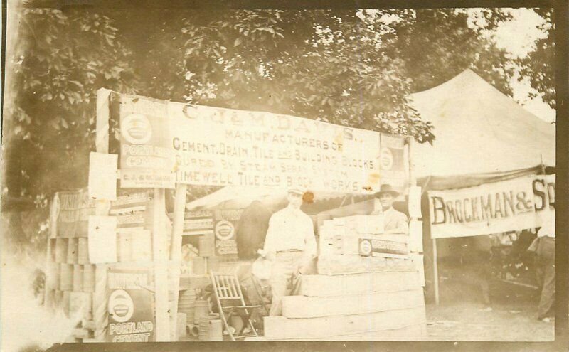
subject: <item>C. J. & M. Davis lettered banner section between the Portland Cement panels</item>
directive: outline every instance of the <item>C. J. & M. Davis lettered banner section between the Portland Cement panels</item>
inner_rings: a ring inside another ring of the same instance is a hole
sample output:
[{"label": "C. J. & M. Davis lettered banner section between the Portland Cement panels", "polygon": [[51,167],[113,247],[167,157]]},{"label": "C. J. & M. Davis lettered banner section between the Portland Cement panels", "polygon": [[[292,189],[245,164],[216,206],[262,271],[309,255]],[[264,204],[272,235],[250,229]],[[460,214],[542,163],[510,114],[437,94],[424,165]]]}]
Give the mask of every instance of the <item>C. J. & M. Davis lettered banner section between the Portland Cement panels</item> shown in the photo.
[{"label": "C. J. & M. Davis lettered banner section between the Portland Cement panels", "polygon": [[[170,102],[176,180],[216,186],[300,185],[366,193],[381,183],[378,132],[268,112]],[[392,137],[394,138],[394,137]],[[393,154],[387,168],[403,165]]]}]

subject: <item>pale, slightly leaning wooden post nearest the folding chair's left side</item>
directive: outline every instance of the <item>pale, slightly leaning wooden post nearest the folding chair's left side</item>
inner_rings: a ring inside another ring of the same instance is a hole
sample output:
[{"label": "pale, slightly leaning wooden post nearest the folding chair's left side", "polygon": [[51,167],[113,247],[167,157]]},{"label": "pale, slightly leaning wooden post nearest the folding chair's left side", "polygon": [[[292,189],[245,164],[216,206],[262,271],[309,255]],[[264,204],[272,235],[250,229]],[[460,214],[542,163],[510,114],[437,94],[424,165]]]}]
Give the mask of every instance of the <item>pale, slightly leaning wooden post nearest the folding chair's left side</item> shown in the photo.
[{"label": "pale, slightly leaning wooden post nearest the folding chair's left side", "polygon": [[180,289],[180,266],[181,266],[181,251],[182,251],[182,233],[184,231],[184,214],[186,213],[186,184],[176,185],[176,203],[174,203],[174,223],[172,224],[172,243],[170,251],[171,265],[174,268],[172,279],[174,280],[174,302],[170,307],[171,324],[170,331],[173,331],[171,336],[172,341],[176,341],[178,326],[178,300]]}]

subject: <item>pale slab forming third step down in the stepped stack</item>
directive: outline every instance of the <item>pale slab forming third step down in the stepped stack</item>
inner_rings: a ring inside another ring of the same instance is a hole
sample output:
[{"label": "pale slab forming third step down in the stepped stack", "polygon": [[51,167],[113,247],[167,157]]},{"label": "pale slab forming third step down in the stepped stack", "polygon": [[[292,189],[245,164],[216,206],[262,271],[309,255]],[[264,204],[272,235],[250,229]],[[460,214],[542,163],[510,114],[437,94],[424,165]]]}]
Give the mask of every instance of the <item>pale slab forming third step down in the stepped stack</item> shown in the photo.
[{"label": "pale slab forming third step down in the stepped stack", "polygon": [[366,314],[425,305],[422,289],[336,297],[282,297],[282,315],[287,318]]}]

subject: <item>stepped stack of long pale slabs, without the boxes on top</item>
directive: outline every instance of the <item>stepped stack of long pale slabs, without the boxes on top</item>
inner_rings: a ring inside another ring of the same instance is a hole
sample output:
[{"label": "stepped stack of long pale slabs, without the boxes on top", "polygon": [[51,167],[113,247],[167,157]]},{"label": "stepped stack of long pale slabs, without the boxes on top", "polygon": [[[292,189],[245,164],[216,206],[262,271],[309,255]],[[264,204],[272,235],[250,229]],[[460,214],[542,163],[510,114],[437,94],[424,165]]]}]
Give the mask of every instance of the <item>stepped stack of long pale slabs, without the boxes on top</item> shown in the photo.
[{"label": "stepped stack of long pale slabs, without the boxes on top", "polygon": [[265,317],[265,338],[425,339],[425,301],[417,273],[410,267],[392,268],[385,265],[375,267],[375,272],[305,275],[299,296],[283,298],[282,316]]}]

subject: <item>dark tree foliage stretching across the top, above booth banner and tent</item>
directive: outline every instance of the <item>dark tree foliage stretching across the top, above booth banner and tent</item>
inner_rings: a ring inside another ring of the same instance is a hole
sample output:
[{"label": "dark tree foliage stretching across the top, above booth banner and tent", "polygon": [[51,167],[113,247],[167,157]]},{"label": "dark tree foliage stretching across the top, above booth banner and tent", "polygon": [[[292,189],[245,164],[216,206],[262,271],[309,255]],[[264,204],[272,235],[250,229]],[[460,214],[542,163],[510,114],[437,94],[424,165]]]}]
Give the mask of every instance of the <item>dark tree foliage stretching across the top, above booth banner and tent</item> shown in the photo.
[{"label": "dark tree foliage stretching across the top, above booth banner and tent", "polygon": [[[9,55],[4,185],[85,186],[95,94],[293,114],[432,142],[412,92],[465,68],[506,94],[511,69],[482,35],[508,16],[455,10],[23,9]],[[7,165],[7,166],[6,166]]]}]

